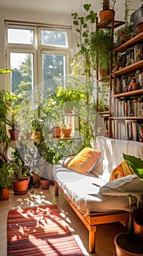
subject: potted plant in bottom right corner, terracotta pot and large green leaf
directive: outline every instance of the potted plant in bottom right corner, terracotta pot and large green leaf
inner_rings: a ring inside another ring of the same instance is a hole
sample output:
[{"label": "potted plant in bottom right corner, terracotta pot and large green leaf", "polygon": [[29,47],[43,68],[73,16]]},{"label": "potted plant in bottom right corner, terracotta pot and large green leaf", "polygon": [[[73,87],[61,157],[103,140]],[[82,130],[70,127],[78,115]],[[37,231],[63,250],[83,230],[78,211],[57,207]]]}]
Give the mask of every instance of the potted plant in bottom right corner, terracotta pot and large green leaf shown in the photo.
[{"label": "potted plant in bottom right corner, terracotta pot and large green leaf", "polygon": [[[143,161],[139,158],[123,154],[123,158],[128,162],[134,173],[143,180]],[[120,233],[115,236],[116,256],[143,256],[143,236],[136,232],[136,226],[131,214],[131,194],[128,194],[130,218],[128,222],[128,233]],[[143,216],[142,216],[143,217]],[[135,217],[136,219],[136,217]]]}]

